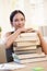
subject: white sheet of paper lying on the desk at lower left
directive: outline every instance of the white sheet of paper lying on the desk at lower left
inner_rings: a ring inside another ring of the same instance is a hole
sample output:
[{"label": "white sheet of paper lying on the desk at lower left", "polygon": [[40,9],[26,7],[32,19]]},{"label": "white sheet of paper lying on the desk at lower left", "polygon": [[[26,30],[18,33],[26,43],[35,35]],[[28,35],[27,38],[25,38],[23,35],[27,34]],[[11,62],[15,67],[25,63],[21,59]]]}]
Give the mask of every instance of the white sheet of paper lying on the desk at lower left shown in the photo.
[{"label": "white sheet of paper lying on the desk at lower left", "polygon": [[0,70],[14,70],[19,68],[25,68],[24,64],[17,64],[17,63],[2,63],[0,64]]}]

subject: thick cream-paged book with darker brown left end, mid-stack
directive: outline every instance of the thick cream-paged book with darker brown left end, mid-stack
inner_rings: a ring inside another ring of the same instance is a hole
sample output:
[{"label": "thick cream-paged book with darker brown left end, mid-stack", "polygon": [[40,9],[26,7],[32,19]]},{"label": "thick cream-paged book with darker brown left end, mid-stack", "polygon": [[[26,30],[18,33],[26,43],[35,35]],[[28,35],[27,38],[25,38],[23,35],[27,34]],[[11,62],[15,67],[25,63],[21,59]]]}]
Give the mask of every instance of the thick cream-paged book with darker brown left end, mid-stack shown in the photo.
[{"label": "thick cream-paged book with darker brown left end, mid-stack", "polygon": [[17,43],[13,43],[13,46],[16,46],[16,47],[25,47],[25,46],[37,46],[37,45],[40,45],[39,44],[39,40],[27,40],[27,42],[17,42]]}]

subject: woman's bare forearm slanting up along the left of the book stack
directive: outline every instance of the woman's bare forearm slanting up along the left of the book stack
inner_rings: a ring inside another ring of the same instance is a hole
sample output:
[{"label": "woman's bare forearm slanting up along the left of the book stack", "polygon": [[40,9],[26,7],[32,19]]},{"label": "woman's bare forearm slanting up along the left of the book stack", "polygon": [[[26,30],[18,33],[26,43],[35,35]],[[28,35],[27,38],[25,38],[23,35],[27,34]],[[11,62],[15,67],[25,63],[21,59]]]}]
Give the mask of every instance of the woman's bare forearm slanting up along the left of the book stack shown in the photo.
[{"label": "woman's bare forearm slanting up along the left of the book stack", "polygon": [[16,37],[19,36],[20,31],[17,29],[16,32],[14,32],[13,34],[11,34],[5,42],[5,46],[7,48],[10,48],[11,44],[13,44],[13,42],[16,39]]}]

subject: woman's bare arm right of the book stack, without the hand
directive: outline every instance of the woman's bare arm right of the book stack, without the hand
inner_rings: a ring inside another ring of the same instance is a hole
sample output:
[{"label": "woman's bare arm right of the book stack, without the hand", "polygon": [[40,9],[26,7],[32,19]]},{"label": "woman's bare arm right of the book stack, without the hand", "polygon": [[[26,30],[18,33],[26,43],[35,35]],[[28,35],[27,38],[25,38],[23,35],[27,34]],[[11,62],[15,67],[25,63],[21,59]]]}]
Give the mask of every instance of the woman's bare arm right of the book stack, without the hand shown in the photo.
[{"label": "woman's bare arm right of the book stack, without the hand", "polygon": [[38,31],[37,32],[38,36],[39,36],[39,40],[40,40],[40,46],[42,46],[42,49],[44,50],[44,52],[47,55],[47,44],[44,39],[44,36],[43,34]]}]

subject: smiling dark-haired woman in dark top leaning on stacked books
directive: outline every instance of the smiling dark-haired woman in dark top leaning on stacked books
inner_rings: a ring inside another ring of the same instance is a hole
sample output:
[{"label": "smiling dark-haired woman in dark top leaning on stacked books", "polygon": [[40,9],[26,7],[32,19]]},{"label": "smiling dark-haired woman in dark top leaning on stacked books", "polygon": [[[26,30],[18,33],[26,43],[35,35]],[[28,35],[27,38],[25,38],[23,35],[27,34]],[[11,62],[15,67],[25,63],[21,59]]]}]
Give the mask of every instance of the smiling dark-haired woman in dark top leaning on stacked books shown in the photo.
[{"label": "smiling dark-haired woman in dark top leaning on stacked books", "polygon": [[[10,22],[11,25],[15,28],[14,32],[9,32],[5,34],[7,37],[7,42],[5,42],[5,46],[7,46],[7,59],[8,61],[12,61],[12,52],[13,52],[13,42],[16,39],[16,37],[19,36],[19,34],[21,33],[25,33],[25,32],[35,32],[33,28],[25,28],[25,15],[22,11],[20,10],[15,10],[11,13],[10,15]],[[47,54],[47,46],[46,43],[44,42],[43,35],[40,32],[37,32],[39,39],[40,39],[40,45],[42,48],[44,49],[45,54]]]}]

